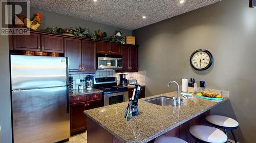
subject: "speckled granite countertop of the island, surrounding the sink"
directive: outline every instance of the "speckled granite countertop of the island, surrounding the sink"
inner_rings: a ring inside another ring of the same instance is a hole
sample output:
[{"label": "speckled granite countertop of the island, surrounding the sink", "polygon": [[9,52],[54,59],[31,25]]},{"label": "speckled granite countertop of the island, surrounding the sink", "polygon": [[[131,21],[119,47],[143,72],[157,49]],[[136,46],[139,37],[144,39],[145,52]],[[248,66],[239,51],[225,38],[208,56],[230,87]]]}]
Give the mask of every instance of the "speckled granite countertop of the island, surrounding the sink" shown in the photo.
[{"label": "speckled granite countertop of the island, surrounding the sink", "polygon": [[148,142],[229,99],[224,97],[224,100],[216,102],[198,97],[183,98],[184,102],[176,107],[144,101],[158,96],[177,97],[177,92],[139,99],[139,116],[130,121],[123,117],[128,102],[86,110],[84,114],[122,142]]}]

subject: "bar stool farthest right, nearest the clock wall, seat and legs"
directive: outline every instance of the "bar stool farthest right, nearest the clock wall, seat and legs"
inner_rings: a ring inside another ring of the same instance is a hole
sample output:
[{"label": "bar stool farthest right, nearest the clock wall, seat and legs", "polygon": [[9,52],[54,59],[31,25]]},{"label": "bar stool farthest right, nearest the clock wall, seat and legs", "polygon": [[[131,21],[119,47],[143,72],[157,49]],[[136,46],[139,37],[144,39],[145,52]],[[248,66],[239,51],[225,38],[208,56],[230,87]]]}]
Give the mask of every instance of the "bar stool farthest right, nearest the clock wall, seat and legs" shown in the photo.
[{"label": "bar stool farthest right, nearest the clock wall, seat and legs", "polygon": [[237,138],[232,131],[238,128],[239,123],[236,120],[220,115],[210,115],[206,117],[206,121],[209,124],[216,126],[217,128],[224,129],[226,135],[227,130],[230,130],[233,135],[234,141],[237,143]]}]

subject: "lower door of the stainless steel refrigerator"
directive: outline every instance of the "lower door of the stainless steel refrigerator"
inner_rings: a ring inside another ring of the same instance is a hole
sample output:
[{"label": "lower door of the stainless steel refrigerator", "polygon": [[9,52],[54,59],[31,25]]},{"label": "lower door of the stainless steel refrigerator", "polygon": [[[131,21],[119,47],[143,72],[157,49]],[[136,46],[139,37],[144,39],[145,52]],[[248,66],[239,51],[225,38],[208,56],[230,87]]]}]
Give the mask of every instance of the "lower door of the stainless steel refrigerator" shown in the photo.
[{"label": "lower door of the stainless steel refrigerator", "polygon": [[12,92],[14,142],[56,142],[70,137],[67,87]]}]

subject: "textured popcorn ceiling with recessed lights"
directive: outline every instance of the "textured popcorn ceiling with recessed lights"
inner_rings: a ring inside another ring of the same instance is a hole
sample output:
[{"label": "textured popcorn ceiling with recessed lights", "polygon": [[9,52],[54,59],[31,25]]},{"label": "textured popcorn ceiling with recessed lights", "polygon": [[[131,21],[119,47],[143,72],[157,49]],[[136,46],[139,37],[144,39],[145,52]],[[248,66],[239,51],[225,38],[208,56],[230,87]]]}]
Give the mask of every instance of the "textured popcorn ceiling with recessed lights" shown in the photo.
[{"label": "textured popcorn ceiling with recessed lights", "polygon": [[[220,0],[31,0],[35,8],[94,22],[135,30],[161,20],[192,11]],[[142,19],[142,15],[146,18]]]}]

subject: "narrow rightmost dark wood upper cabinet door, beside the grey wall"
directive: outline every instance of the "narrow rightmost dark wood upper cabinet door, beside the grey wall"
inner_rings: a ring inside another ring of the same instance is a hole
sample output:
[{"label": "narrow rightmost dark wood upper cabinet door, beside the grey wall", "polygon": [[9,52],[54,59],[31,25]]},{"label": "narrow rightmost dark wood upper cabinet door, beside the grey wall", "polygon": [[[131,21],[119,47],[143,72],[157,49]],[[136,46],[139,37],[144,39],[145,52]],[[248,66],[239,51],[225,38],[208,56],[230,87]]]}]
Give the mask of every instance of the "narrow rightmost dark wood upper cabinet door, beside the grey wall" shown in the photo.
[{"label": "narrow rightmost dark wood upper cabinet door, beside the grey wall", "polygon": [[130,46],[130,70],[138,71],[138,47]]}]

